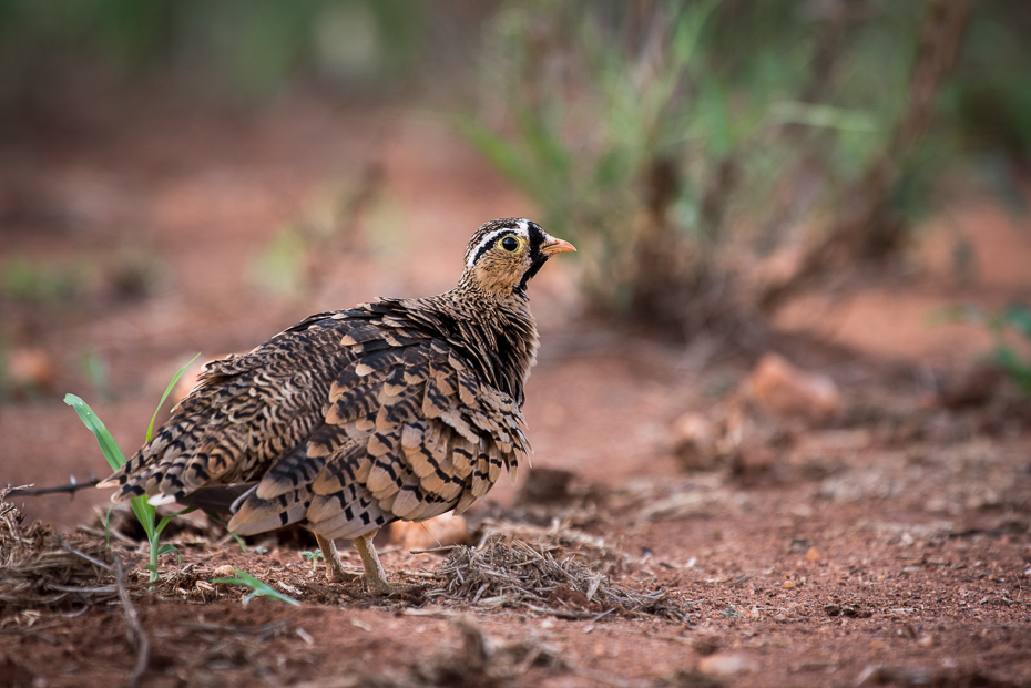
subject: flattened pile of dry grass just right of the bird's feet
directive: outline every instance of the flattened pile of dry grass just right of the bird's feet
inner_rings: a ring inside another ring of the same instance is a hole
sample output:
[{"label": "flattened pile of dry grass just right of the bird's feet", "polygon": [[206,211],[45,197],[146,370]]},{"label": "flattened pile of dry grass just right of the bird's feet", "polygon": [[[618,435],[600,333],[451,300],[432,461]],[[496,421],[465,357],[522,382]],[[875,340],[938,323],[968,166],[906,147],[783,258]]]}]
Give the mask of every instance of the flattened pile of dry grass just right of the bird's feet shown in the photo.
[{"label": "flattened pile of dry grass just right of the bird's feet", "polygon": [[610,614],[687,623],[687,609],[663,589],[631,592],[562,547],[490,533],[477,547],[455,547],[437,569],[442,584],[426,593],[445,604],[525,607],[561,618],[598,620]]}]

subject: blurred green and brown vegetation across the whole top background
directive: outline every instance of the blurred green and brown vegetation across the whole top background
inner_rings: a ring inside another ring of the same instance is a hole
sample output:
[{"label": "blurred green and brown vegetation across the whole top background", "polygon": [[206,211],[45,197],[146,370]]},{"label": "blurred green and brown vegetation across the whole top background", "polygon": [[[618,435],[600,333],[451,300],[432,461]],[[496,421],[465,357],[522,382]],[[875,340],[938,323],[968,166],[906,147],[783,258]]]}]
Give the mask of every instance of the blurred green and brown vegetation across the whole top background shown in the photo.
[{"label": "blurred green and brown vegetation across the whole top background", "polygon": [[[1024,210],[1028,35],[1023,0],[0,0],[0,116],[76,89],[431,103],[582,245],[594,312],[747,338],[894,259],[957,179]],[[76,284],[25,265],[9,297]]]}]

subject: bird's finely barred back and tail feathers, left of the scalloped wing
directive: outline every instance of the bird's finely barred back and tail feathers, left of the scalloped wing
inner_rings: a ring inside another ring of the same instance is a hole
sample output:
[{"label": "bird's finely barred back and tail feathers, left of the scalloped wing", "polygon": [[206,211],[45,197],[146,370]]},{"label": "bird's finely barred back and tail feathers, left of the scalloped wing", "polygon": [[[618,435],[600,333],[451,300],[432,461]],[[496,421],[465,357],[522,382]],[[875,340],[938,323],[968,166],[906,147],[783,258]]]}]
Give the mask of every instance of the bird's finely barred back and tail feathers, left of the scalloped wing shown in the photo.
[{"label": "bird's finely barred back and tail feathers, left of the scalloped wing", "polygon": [[119,487],[118,502],[259,480],[323,424],[334,372],[353,358],[340,339],[359,325],[321,314],[212,361],[154,438],[100,486]]}]

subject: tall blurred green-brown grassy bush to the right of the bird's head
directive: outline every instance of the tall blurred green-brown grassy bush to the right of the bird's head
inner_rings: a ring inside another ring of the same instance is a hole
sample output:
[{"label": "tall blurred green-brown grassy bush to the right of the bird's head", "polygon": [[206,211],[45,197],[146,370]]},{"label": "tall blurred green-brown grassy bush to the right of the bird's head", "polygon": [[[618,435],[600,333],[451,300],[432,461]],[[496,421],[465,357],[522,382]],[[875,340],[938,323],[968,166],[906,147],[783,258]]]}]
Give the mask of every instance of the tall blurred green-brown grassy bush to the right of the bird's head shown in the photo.
[{"label": "tall blurred green-brown grassy bush to the right of the bird's head", "polygon": [[[1029,19],[961,0],[511,2],[465,131],[582,244],[594,309],[741,332],[829,267],[897,251],[942,172],[1027,160]],[[775,251],[786,277],[758,269]]]}]

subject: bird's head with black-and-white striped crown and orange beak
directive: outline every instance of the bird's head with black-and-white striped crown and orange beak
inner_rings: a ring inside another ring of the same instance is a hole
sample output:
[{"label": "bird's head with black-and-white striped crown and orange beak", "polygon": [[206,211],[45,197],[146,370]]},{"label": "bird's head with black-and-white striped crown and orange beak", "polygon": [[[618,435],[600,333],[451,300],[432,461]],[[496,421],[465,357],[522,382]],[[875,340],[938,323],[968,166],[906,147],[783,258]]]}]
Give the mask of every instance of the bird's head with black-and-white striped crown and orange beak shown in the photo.
[{"label": "bird's head with black-and-white striped crown and orange beak", "polygon": [[462,283],[499,298],[525,295],[527,284],[554,254],[576,250],[519,217],[487,223],[469,239]]}]

